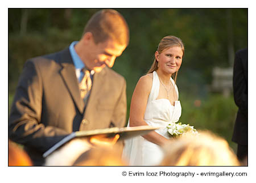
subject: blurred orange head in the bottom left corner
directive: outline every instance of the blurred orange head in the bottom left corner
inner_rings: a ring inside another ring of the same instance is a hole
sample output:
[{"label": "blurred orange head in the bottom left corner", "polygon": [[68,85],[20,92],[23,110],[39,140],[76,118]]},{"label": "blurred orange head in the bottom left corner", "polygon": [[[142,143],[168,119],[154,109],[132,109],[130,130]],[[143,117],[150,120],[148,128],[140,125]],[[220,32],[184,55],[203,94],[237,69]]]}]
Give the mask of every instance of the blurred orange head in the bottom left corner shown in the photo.
[{"label": "blurred orange head in the bottom left corner", "polygon": [[32,166],[32,161],[14,142],[8,143],[8,165],[9,166]]}]

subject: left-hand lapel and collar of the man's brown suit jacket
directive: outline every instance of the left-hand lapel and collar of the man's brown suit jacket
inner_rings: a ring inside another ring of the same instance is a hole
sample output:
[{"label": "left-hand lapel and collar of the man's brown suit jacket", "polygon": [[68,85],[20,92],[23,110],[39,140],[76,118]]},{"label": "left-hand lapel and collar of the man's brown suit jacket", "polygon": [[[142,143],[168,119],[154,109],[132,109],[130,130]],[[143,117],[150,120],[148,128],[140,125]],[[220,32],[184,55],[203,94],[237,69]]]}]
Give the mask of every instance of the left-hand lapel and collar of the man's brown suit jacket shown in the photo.
[{"label": "left-hand lapel and collar of the man's brown suit jacket", "polygon": [[[73,65],[73,61],[69,50],[66,49],[61,54],[60,57],[60,64],[63,68],[60,70],[60,75],[62,76],[64,83],[66,84],[69,92],[77,108],[79,109],[80,113],[84,112],[84,101],[81,99],[80,91],[79,91],[79,84],[76,78],[75,66]],[[63,99],[65,100],[65,99]]]}]

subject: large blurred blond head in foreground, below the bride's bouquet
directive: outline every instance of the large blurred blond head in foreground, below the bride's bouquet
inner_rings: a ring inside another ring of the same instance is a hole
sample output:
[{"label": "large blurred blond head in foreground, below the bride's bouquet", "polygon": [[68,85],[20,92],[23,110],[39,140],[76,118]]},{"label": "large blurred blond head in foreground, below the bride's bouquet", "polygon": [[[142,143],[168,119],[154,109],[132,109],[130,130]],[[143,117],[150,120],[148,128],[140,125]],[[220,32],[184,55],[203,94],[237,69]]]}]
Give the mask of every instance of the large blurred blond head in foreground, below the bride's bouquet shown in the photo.
[{"label": "large blurred blond head in foreground, below the bride's bouquet", "polygon": [[240,163],[221,137],[200,131],[187,134],[164,147],[162,166],[239,166]]}]

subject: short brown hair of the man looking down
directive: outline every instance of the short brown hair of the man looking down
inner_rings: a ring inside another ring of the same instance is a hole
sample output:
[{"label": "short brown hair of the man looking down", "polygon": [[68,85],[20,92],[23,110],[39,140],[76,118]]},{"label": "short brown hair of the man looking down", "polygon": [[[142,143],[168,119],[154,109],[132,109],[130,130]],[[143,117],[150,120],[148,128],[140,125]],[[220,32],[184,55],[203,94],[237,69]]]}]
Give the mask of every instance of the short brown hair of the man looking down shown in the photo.
[{"label": "short brown hair of the man looking down", "polygon": [[107,39],[112,39],[120,45],[129,44],[129,28],[125,18],[115,10],[100,10],[89,19],[85,25],[84,35],[86,32],[91,32],[94,42],[104,42]]}]

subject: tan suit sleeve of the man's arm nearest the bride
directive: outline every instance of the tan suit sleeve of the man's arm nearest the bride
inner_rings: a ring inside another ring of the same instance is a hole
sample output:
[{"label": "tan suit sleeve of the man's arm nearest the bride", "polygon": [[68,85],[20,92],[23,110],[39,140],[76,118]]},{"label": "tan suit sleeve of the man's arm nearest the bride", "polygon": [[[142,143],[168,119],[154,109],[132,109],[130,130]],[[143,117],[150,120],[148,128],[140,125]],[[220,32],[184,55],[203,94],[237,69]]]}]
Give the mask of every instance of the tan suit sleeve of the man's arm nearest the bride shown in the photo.
[{"label": "tan suit sleeve of the man's arm nearest the bride", "polygon": [[123,79],[122,82],[122,90],[121,95],[118,98],[117,103],[115,104],[113,117],[112,117],[112,123],[116,127],[124,127],[126,122],[126,82],[125,79]]}]

